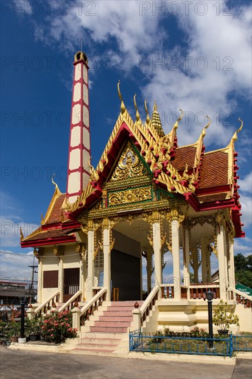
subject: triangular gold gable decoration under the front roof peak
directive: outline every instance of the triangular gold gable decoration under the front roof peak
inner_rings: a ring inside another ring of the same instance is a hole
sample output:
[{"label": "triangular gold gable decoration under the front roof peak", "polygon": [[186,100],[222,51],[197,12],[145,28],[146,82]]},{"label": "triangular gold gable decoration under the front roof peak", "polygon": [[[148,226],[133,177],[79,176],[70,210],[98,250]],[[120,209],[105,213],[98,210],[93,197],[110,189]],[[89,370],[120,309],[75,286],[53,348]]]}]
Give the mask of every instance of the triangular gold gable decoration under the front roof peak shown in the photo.
[{"label": "triangular gold gable decoration under the front roof peak", "polygon": [[147,174],[147,167],[134,150],[132,143],[128,141],[108,183],[139,178]]}]

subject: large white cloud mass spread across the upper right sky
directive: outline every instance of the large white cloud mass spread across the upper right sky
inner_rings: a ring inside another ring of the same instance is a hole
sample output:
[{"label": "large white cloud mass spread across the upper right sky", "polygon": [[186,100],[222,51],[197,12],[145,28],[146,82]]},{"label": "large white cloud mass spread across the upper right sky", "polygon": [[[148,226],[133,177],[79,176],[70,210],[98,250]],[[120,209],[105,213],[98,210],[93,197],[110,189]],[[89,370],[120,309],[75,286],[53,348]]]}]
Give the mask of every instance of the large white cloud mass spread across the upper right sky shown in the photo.
[{"label": "large white cloud mass spread across the upper right sky", "polygon": [[[188,118],[184,117],[178,128],[180,145],[198,139],[207,121],[199,112],[212,118],[206,143],[227,145],[239,125],[235,120],[229,126],[220,122],[220,117],[236,107],[229,94],[240,94],[248,99],[251,90],[251,4],[236,4],[228,12],[222,0],[204,1],[206,12],[194,4],[189,5],[186,12],[185,2],[176,1],[184,45],[165,50],[171,31],[168,16],[176,13],[174,7],[161,1],[146,2],[144,6],[143,2],[133,0],[90,3],[92,8],[80,10],[76,6],[78,2],[72,2],[67,14],[52,12],[43,24],[34,23],[36,40],[48,45],[56,43],[57,48],[69,52],[82,38],[84,50],[88,48],[96,60],[96,70],[103,63],[129,74],[141,66],[147,79],[141,91],[150,104],[154,99],[158,101],[160,113],[164,114],[166,125],[169,124],[166,132],[171,129],[171,112],[178,112],[179,107],[191,112],[189,125],[186,125]],[[158,6],[162,6],[162,11]],[[98,48],[103,49],[103,54],[97,54]],[[140,65],[143,59],[146,64]],[[177,69],[173,70],[174,67]],[[174,116],[171,119],[174,121]]]}]

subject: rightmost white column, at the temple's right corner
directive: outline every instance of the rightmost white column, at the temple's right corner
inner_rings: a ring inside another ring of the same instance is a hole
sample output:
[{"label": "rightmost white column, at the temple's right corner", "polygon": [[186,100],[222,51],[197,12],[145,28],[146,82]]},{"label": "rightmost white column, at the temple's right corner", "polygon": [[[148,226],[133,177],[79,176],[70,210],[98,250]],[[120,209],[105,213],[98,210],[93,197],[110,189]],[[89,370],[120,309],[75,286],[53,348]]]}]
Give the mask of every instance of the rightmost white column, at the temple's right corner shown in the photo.
[{"label": "rightmost white column, at the temple's right corner", "polygon": [[219,280],[220,280],[220,298],[223,300],[227,299],[226,293],[226,268],[225,263],[225,238],[224,238],[224,228],[222,225],[217,227],[217,251],[218,251],[218,263],[219,263]]}]

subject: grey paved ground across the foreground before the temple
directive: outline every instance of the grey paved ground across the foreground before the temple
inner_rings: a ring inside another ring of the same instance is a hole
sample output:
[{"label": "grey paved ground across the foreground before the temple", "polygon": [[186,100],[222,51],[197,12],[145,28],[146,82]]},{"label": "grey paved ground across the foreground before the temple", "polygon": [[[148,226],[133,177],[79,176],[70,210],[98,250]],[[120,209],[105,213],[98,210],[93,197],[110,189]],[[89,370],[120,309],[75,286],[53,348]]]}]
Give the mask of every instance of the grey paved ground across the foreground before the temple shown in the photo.
[{"label": "grey paved ground across the foreground before the temple", "polygon": [[251,361],[231,365],[78,356],[0,347],[0,378],[251,379]]}]

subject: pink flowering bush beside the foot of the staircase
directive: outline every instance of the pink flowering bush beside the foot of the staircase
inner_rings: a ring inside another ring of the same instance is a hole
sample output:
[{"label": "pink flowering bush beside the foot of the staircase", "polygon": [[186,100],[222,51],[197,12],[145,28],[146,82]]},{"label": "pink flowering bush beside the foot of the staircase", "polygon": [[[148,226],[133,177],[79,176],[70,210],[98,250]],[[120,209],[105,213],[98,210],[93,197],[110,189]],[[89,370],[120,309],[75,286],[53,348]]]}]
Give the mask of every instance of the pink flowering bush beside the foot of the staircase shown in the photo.
[{"label": "pink flowering bush beside the foot of the staircase", "polygon": [[77,336],[77,329],[72,329],[72,312],[54,312],[45,316],[41,324],[41,335],[46,342],[60,343],[66,338]]}]

